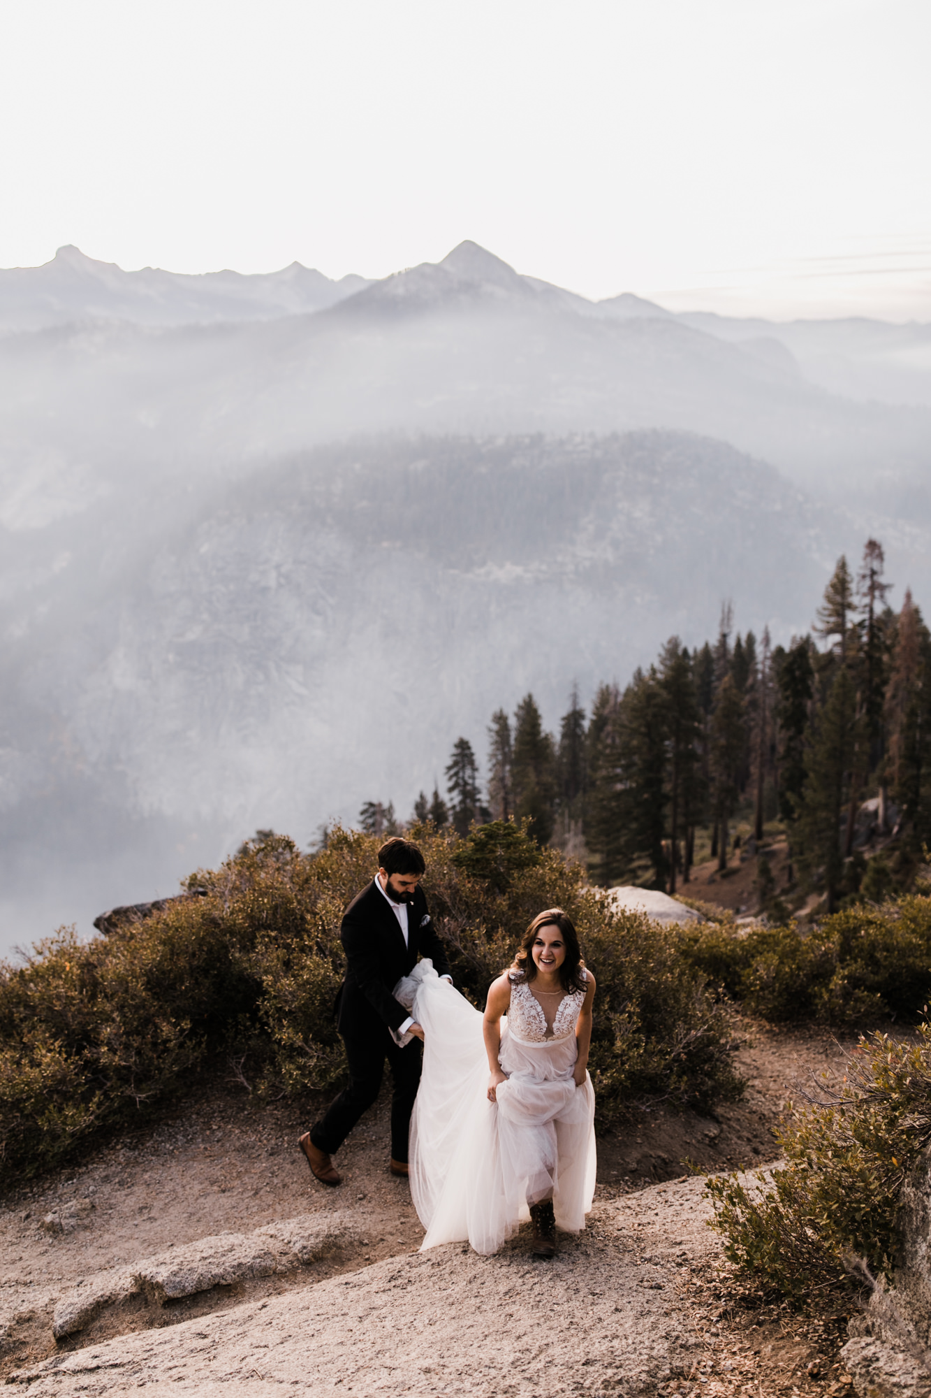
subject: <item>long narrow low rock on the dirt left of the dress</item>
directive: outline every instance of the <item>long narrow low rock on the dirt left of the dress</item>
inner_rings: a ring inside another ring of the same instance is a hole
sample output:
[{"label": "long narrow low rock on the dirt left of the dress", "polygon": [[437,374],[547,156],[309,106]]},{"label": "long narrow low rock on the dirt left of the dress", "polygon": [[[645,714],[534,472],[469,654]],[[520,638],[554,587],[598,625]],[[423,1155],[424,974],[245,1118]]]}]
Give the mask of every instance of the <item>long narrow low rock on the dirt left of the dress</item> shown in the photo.
[{"label": "long narrow low rock on the dirt left of the dress", "polygon": [[268,1223],[254,1233],[217,1233],[169,1248],[134,1267],[98,1274],[67,1292],[55,1307],[55,1338],[64,1339],[84,1329],[105,1307],[129,1300],[138,1292],[164,1306],[168,1300],[194,1296],[211,1286],[232,1286],[273,1272],[294,1272],[354,1241],[356,1236],[358,1229],[342,1213],[303,1213]]}]

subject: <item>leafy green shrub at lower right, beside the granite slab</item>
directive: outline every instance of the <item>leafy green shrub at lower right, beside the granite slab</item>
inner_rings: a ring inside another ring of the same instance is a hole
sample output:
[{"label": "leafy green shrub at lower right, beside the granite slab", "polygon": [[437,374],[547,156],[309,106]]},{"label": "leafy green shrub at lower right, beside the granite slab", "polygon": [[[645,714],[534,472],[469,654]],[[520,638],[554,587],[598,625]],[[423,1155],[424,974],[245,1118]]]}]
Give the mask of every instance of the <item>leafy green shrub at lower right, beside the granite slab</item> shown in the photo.
[{"label": "leafy green shrub at lower right, beside the granite slab", "polygon": [[779,1139],[787,1165],[770,1180],[707,1180],[730,1260],[798,1302],[847,1283],[857,1258],[889,1275],[899,1192],[931,1141],[928,1025],[917,1043],[861,1039],[843,1081],[825,1082]]}]

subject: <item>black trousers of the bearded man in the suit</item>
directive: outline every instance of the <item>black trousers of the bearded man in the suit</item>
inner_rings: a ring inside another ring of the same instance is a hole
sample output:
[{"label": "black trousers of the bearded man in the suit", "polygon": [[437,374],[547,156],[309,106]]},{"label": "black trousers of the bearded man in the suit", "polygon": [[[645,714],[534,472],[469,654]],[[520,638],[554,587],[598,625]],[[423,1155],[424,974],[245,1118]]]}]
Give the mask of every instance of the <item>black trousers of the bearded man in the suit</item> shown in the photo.
[{"label": "black trousers of the bearded man in the suit", "polygon": [[372,1106],[382,1086],[384,1060],[391,1069],[391,1159],[407,1163],[407,1134],[414,1097],[421,1081],[421,1042],[412,1039],[404,1048],[391,1039],[387,1028],[372,1039],[342,1036],[349,1062],[349,1086],[330,1103],[326,1116],[310,1127],[310,1139],[319,1151],[333,1155],[340,1149],[363,1111]]}]

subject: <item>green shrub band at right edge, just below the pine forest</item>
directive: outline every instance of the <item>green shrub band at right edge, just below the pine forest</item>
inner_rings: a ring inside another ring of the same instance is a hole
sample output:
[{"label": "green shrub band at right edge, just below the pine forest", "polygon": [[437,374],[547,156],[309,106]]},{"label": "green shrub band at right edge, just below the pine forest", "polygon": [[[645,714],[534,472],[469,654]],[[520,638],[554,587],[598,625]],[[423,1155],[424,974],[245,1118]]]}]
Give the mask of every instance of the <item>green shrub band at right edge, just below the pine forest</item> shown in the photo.
[{"label": "green shrub band at right edge, just below the pine forest", "polygon": [[931,899],[917,895],[844,909],[811,931],[699,924],[681,946],[732,1000],[776,1022],[914,1018],[931,998]]}]

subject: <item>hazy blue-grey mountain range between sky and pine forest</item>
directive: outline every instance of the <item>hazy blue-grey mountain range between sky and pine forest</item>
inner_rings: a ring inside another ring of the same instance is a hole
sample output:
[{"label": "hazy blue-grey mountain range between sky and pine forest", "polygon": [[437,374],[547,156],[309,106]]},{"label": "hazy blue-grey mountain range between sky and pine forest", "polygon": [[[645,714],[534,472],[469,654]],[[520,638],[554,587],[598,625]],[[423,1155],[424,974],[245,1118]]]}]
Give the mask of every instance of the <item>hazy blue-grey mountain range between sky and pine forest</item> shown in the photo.
[{"label": "hazy blue-grey mountain range between sky and pine forest", "polygon": [[493,707],[552,724],[724,597],[787,639],[867,533],[931,596],[925,326],[589,302],[463,243],[375,282],[63,249],[0,327],[0,946],[407,812]]}]

